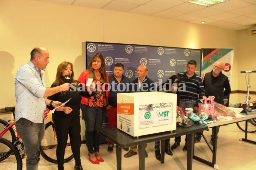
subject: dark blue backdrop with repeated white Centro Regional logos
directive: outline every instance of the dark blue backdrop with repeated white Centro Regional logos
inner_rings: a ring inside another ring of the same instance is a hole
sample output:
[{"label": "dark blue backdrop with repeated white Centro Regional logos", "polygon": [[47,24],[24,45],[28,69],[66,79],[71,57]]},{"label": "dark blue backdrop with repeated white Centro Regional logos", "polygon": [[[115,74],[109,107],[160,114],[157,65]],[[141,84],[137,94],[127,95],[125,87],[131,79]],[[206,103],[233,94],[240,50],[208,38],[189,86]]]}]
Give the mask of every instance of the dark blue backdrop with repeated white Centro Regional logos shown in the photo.
[{"label": "dark blue backdrop with repeated white Centro Regional logos", "polygon": [[[201,74],[201,49],[86,42],[86,68],[91,56],[98,52],[105,59],[106,71],[109,76],[113,75],[115,64],[122,63],[124,65],[124,75],[131,82],[137,78],[137,67],[139,65],[148,67],[149,73],[147,76],[157,85],[166,82],[172,75],[186,71],[189,60],[195,60],[198,63],[195,73]],[[102,127],[108,127],[106,115],[103,115]],[[101,139],[101,143],[105,142],[105,139]]]}]

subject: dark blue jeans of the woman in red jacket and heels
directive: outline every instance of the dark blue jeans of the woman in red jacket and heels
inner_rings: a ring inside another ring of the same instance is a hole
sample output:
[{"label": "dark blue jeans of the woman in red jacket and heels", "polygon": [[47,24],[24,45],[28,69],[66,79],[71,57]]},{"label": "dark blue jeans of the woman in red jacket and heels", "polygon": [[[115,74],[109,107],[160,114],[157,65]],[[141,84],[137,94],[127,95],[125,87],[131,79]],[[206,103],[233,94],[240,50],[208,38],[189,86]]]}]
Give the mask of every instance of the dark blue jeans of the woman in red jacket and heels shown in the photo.
[{"label": "dark blue jeans of the woman in red jacket and heels", "polygon": [[99,152],[100,150],[100,134],[97,129],[102,126],[102,115],[106,112],[105,107],[89,107],[81,105],[82,113],[85,121],[85,140],[89,153]]}]

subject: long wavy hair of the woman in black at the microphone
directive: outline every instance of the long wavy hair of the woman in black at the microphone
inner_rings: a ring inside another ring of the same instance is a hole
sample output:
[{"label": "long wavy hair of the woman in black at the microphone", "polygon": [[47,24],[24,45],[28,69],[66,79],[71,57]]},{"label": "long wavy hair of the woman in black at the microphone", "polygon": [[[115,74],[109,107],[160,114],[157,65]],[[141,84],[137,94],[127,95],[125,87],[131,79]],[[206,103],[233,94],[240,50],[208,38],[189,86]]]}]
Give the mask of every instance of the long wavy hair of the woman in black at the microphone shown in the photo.
[{"label": "long wavy hair of the woman in black at the microphone", "polygon": [[70,64],[72,73],[71,73],[71,83],[76,83],[74,80],[74,70],[73,70],[73,64],[68,61],[63,61],[61,64],[58,65],[57,72],[56,72],[56,78],[53,84],[55,86],[59,86],[64,84],[64,76],[62,76],[62,72],[65,71],[66,67]]}]

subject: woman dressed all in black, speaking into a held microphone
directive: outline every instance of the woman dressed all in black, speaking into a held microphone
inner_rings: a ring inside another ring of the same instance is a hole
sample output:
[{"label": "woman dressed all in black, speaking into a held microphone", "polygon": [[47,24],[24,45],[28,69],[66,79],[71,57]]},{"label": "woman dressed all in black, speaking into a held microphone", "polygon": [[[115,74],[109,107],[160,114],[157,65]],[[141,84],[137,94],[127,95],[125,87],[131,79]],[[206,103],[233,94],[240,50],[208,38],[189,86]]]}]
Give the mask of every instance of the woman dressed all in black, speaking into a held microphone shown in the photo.
[{"label": "woman dressed all in black, speaking into a held microphone", "polygon": [[[82,88],[82,84],[74,80],[73,64],[67,61],[58,65],[56,79],[51,87],[59,86],[65,82],[65,76],[69,78],[71,83],[70,90],[61,91],[48,97],[52,101],[66,102],[72,98],[65,106],[59,107],[53,113],[54,129],[57,136],[56,157],[58,170],[64,169],[64,154],[67,145],[68,135],[70,138],[71,149],[75,159],[74,170],[83,170],[80,159],[81,146],[81,126],[80,126],[80,102],[81,95],[90,97],[87,90],[78,90]],[[52,103],[51,101],[51,103]],[[52,110],[50,103],[49,109]]]}]

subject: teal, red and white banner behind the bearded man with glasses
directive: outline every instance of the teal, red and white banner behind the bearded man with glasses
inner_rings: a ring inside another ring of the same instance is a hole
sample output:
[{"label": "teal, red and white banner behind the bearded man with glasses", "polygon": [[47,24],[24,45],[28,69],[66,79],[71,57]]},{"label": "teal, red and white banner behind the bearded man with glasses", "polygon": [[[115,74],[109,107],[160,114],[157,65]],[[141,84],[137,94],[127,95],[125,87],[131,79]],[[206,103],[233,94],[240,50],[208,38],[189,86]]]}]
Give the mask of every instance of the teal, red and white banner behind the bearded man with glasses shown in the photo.
[{"label": "teal, red and white banner behind the bearded man with glasses", "polygon": [[[202,79],[204,80],[205,73],[210,72],[214,63],[221,60],[225,63],[222,73],[231,81],[231,73],[233,68],[234,48],[202,48]],[[208,97],[208,96],[207,96]],[[228,107],[229,96],[224,99],[224,105]]]}]

